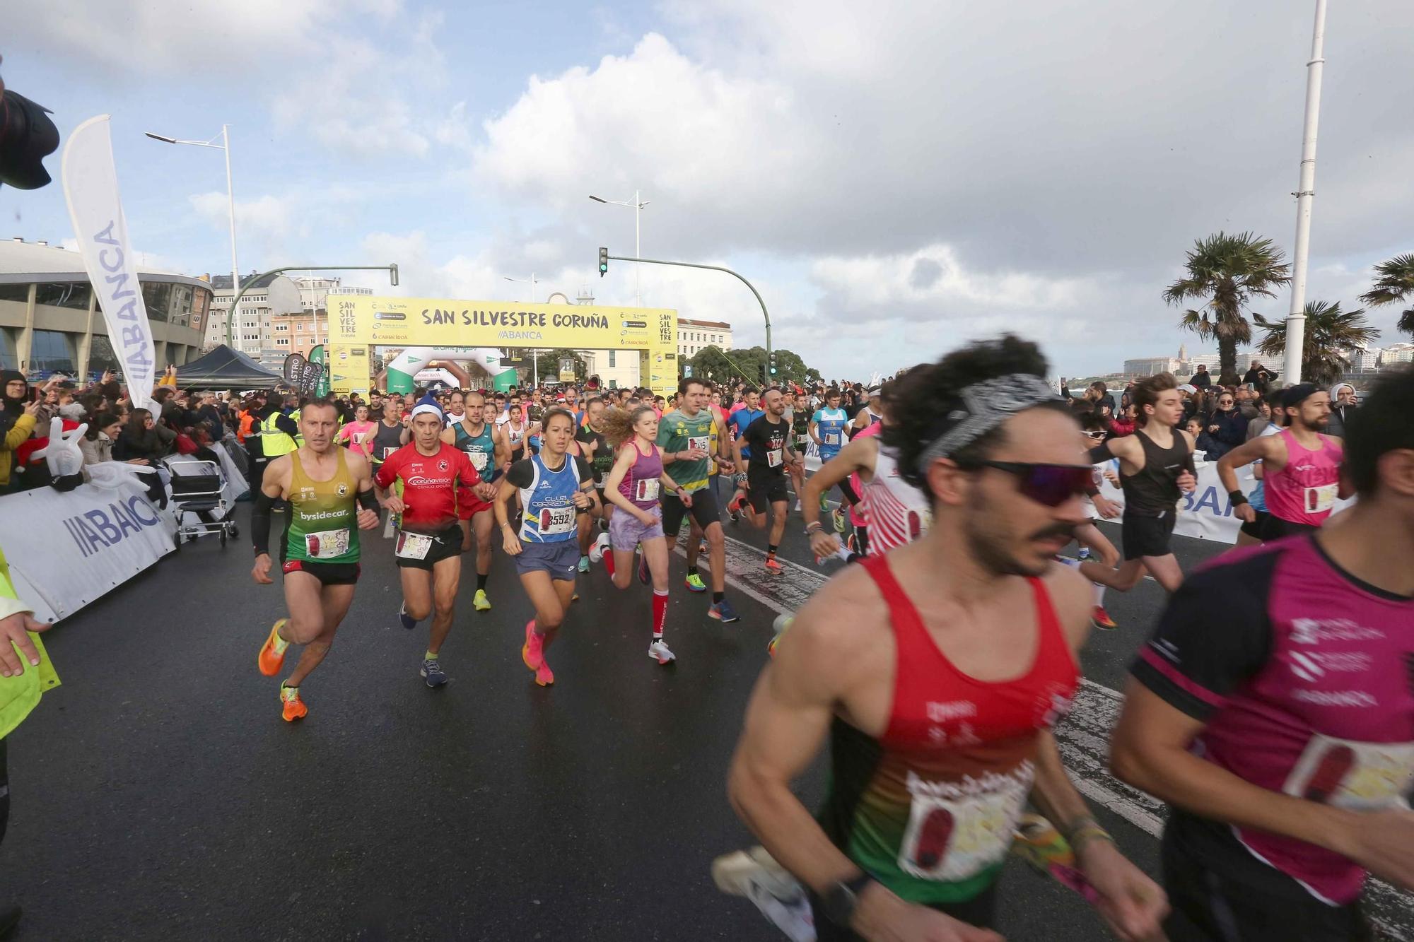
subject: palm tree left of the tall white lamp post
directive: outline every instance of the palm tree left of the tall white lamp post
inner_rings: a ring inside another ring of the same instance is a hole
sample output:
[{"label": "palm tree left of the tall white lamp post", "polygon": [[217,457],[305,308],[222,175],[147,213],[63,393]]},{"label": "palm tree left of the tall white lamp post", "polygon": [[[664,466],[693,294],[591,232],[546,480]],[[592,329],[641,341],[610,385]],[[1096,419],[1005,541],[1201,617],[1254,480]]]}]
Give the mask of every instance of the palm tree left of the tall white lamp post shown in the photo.
[{"label": "palm tree left of the tall white lamp post", "polygon": [[1193,243],[1184,272],[1184,277],[1164,290],[1164,300],[1182,304],[1206,298],[1202,307],[1184,311],[1182,325],[1203,339],[1217,338],[1217,382],[1233,385],[1237,382],[1237,344],[1251,341],[1251,324],[1243,308],[1256,296],[1277,297],[1273,289],[1291,283],[1291,266],[1271,239],[1250,232],[1219,232]]}]

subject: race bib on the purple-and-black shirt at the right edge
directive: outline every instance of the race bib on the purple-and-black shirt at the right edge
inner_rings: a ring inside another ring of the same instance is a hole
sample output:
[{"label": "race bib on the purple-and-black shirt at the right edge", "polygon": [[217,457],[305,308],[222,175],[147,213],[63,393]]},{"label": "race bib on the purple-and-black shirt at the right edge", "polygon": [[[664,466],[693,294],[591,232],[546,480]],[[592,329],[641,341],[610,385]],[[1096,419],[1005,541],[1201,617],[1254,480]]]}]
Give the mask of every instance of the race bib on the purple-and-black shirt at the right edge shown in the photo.
[{"label": "race bib on the purple-and-black shirt at the right edge", "polygon": [[1352,810],[1408,808],[1414,743],[1356,743],[1319,733],[1281,786],[1287,795]]}]

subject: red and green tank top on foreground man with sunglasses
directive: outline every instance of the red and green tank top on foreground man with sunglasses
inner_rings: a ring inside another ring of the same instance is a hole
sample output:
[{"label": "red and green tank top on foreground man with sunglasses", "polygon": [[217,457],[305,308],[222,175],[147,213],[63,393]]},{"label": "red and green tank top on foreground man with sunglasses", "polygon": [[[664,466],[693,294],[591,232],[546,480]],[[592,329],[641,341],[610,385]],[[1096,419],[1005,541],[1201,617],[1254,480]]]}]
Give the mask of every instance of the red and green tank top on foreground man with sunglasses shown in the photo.
[{"label": "red and green tank top on foreground man with sunglasses", "polygon": [[1035,778],[1041,733],[1070,709],[1079,670],[1039,578],[1029,670],[983,682],[937,649],[887,556],[864,562],[888,604],[898,649],[888,727],[878,738],[836,719],[830,840],[904,900],[960,902],[997,878]]}]

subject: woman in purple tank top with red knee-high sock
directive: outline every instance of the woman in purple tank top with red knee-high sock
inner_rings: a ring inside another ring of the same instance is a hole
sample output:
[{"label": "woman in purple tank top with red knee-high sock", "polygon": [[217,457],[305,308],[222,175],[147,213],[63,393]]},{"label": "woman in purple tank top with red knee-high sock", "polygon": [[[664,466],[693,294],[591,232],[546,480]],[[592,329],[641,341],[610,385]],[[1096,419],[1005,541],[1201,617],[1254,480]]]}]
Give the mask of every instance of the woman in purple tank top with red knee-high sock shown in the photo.
[{"label": "woman in purple tank top with red knee-high sock", "polygon": [[632,412],[611,409],[604,413],[604,438],[618,450],[614,468],[604,482],[604,496],[619,508],[609,518],[612,553],[604,554],[604,564],[618,588],[628,588],[633,547],[643,550],[638,564],[639,581],[653,583],[653,642],[648,656],[658,663],[674,661],[663,642],[663,621],[667,618],[667,539],[663,536],[663,511],[659,494],[677,495],[683,506],[691,506],[691,496],[663,471],[663,455],[658,440],[658,413],[643,406]]}]

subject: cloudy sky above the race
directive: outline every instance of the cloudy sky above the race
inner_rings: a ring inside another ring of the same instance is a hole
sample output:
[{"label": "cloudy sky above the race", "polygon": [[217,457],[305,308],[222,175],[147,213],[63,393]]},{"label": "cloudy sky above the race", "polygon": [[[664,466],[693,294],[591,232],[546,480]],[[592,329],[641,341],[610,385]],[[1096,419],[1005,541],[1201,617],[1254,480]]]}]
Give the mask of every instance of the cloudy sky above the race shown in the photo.
[{"label": "cloudy sky above the race", "polygon": [[[1159,298],[1193,239],[1290,250],[1314,3],[17,0],[11,88],[61,133],[102,112],[134,248],[229,270],[386,263],[393,293],[731,321],[861,376],[1014,330],[1055,373],[1186,342]],[[1308,298],[1356,306],[1414,250],[1407,0],[1332,3]],[[48,167],[58,175],[58,156]],[[0,190],[0,236],[72,236],[62,192]],[[349,277],[379,290],[376,276]],[[1284,314],[1288,296],[1258,307]],[[1393,308],[1372,314],[1384,342]]]}]

